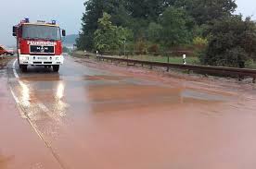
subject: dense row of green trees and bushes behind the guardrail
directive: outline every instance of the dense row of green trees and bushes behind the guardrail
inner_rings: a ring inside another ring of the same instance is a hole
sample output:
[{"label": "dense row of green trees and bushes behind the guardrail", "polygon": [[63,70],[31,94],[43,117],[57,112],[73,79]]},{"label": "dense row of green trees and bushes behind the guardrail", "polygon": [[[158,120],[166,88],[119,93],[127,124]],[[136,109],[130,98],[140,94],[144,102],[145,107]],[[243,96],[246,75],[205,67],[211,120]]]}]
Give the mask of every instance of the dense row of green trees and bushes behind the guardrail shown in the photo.
[{"label": "dense row of green trees and bushes behind the guardrail", "polygon": [[88,0],[81,50],[138,54],[192,49],[202,64],[244,67],[255,60],[256,26],[235,0]]}]

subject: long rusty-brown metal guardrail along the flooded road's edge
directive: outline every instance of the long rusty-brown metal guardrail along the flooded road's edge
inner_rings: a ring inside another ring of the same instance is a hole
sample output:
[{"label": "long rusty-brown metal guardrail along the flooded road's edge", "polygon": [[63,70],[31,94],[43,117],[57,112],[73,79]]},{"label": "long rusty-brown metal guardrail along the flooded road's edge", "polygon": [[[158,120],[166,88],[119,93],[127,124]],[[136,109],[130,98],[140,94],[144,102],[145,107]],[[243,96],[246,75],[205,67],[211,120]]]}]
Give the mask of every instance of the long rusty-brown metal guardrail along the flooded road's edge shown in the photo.
[{"label": "long rusty-brown metal guardrail along the flooded road's edge", "polygon": [[134,59],[125,59],[125,58],[117,58],[117,57],[109,57],[109,56],[96,56],[97,60],[109,60],[111,62],[118,61],[118,62],[125,62],[127,64],[140,64],[141,66],[160,66],[166,67],[167,71],[170,68],[177,68],[177,69],[185,69],[185,70],[192,70],[197,71],[200,74],[218,74],[223,76],[231,76],[237,77],[241,80],[244,77],[251,77],[252,82],[256,82],[256,69],[249,69],[249,68],[235,68],[235,67],[224,67],[224,66],[198,66],[198,65],[183,65],[183,64],[171,64],[171,63],[160,63],[160,62],[150,62],[150,61],[142,61],[142,60],[134,60]]}]

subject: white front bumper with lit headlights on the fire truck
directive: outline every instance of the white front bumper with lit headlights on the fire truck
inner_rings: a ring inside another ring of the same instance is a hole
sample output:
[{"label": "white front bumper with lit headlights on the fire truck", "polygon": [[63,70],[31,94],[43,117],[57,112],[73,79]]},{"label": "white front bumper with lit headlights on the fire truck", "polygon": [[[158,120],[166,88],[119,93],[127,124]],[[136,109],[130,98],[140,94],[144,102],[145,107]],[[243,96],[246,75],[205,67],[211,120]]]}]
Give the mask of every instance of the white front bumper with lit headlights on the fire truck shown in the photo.
[{"label": "white front bumper with lit headlights on the fire truck", "polygon": [[52,66],[63,65],[63,55],[19,54],[19,65]]}]

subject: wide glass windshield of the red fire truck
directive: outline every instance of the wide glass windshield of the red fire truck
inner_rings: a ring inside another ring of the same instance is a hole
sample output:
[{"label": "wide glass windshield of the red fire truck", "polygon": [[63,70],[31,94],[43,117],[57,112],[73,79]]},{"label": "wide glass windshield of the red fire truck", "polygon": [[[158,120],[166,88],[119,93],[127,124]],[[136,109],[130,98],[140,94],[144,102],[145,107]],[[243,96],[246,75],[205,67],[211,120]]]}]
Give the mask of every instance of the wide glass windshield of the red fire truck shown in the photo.
[{"label": "wide glass windshield of the red fire truck", "polygon": [[60,29],[50,26],[24,25],[22,28],[22,38],[58,41],[61,38]]}]

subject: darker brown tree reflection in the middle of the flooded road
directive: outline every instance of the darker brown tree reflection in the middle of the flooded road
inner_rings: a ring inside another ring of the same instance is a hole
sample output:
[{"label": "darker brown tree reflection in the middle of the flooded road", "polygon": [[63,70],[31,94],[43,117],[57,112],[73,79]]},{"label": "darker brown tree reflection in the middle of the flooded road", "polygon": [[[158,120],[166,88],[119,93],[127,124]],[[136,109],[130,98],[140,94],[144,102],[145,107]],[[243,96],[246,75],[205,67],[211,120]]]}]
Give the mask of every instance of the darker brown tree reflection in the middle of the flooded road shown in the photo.
[{"label": "darker brown tree reflection in the middle of the flooded road", "polygon": [[191,103],[219,103],[230,98],[214,92],[155,85],[87,86],[86,97],[94,113],[113,112],[135,107],[162,107]]}]

